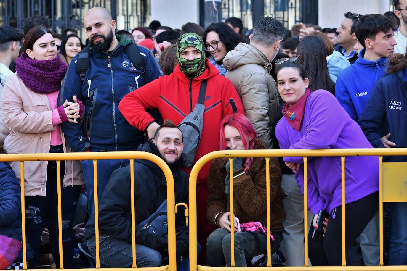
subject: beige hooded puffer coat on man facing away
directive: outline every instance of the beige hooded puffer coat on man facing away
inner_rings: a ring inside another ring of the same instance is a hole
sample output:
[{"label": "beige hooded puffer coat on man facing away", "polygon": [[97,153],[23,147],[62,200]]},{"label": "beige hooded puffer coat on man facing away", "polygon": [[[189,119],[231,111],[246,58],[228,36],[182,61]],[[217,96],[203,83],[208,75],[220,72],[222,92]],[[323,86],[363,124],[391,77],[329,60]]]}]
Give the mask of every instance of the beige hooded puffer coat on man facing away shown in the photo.
[{"label": "beige hooded puffer coat on man facing away", "polygon": [[240,98],[246,117],[252,122],[257,138],[267,149],[273,147],[271,123],[276,119],[279,95],[276,81],[271,77],[271,63],[254,46],[239,43],[223,59],[229,78]]}]

